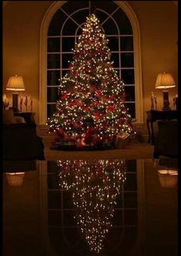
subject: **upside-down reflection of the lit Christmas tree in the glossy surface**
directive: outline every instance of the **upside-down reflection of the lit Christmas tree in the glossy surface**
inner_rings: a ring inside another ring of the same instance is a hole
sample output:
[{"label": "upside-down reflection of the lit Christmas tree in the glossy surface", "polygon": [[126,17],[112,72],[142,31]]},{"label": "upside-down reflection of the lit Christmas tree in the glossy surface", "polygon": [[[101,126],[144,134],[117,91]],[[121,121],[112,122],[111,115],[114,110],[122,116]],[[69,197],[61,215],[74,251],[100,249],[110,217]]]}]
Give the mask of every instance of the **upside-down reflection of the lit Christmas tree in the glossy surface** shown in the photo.
[{"label": "upside-down reflection of the lit Christmas tree in the glossy surface", "polygon": [[111,227],[116,197],[126,179],[123,160],[58,161],[60,186],[73,192],[78,227],[99,253]]}]

